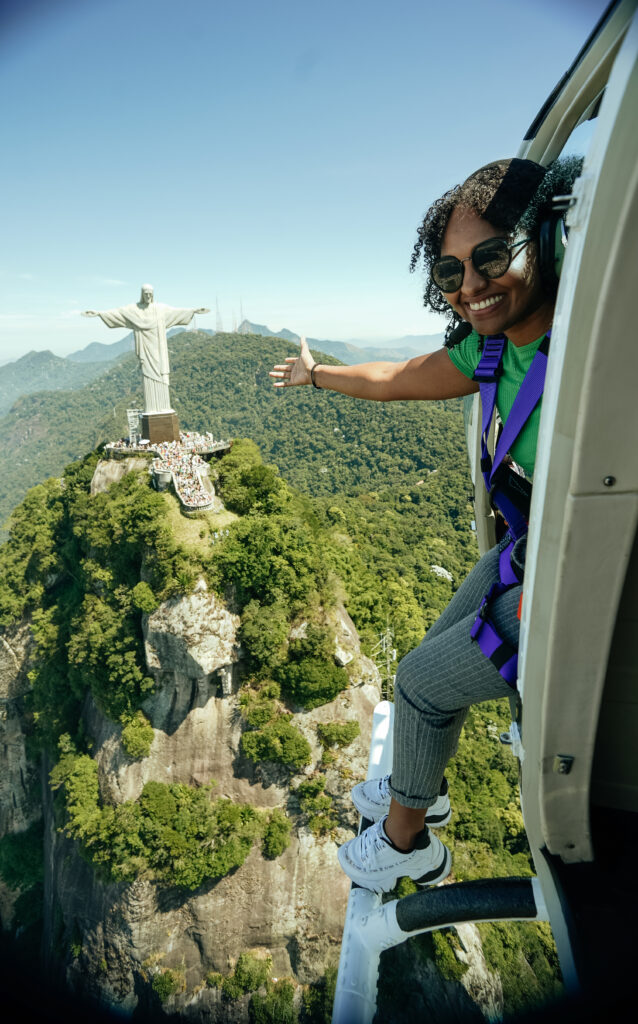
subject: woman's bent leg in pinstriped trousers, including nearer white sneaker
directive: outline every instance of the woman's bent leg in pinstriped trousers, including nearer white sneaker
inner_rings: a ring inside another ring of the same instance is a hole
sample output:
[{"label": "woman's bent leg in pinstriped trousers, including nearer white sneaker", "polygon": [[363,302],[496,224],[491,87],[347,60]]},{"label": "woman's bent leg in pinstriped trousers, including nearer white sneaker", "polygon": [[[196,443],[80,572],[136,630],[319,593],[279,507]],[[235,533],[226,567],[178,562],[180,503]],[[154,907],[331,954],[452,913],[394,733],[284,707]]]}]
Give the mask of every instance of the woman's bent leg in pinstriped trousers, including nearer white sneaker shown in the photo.
[{"label": "woman's bent leg in pinstriped trousers, including nearer white sneaker", "polygon": [[[388,892],[401,876],[434,885],[450,871],[450,851],[423,827],[423,817],[439,795],[469,706],[511,693],[470,638],[480,600],[498,579],[498,555],[494,549],[481,558],[423,643],[398,667],[389,813],[338,851],[343,870],[357,885]],[[520,590],[512,588],[491,608],[497,630],[511,644],[518,642]]]}]

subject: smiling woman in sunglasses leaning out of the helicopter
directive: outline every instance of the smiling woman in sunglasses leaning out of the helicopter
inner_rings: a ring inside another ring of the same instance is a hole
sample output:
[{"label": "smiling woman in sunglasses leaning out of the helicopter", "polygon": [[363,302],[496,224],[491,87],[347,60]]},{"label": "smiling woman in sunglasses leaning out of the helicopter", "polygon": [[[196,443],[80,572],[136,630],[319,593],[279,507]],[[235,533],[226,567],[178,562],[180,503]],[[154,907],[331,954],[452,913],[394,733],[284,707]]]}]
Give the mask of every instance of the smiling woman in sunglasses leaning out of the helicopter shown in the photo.
[{"label": "smiling woman in sunglasses leaning out of the helicopter", "polygon": [[494,465],[485,447],[481,470],[508,531],[400,662],[392,773],[352,792],[375,824],[340,848],[339,861],[353,882],[376,892],[400,877],[432,885],[449,873],[450,852],[430,831],[450,819],[445,766],[468,708],[516,686],[529,481],[563,244],[553,200],[571,191],[580,167],[578,158],[547,170],[529,160],[499,161],[430,207],[412,269],[423,261],[425,305],[449,315],[445,348],[402,364],[333,367],[315,365],[302,339],[299,356],[270,374],[275,387],[312,384],[379,401],[449,398],[480,387],[483,429],[495,404],[505,424]]}]

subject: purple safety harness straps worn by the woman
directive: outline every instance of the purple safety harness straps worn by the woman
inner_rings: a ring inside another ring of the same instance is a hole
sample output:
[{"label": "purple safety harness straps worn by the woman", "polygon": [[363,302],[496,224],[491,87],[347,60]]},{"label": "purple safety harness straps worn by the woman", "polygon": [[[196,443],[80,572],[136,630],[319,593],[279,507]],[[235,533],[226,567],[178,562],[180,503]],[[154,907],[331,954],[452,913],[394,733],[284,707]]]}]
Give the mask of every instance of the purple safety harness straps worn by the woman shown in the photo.
[{"label": "purple safety harness straps worn by the woman", "polygon": [[512,687],[516,686],[518,650],[500,636],[488,617],[488,612],[492,601],[520,582],[512,568],[510,556],[515,542],[527,531],[527,520],[505,494],[499,493],[498,485],[494,486],[494,478],[503,459],[543,395],[550,337],[551,331],[548,331],[518,389],[499,438],[494,463],[487,449],[487,435],[496,407],[498,379],[503,373],[503,352],[507,343],[505,335],[485,338],[481,357],[474,373],[474,380],[478,381],[482,406],[480,468],[487,493],[507,521],[507,536],[510,543],[499,556],[499,582],[495,583],[483,597],[478,614],[470,630],[470,637],[478,643],[480,651],[493,662],[503,679]]}]

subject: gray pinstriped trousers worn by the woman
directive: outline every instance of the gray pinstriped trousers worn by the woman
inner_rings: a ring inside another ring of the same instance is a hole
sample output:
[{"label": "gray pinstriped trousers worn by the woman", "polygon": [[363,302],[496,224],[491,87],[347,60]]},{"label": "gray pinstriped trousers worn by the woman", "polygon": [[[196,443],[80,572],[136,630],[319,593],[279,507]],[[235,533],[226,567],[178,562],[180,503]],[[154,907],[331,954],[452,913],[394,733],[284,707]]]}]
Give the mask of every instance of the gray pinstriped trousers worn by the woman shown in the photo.
[{"label": "gray pinstriped trousers worn by the woman", "polygon": [[[480,601],[499,579],[499,554],[506,545],[503,541],[483,555],[425,640],[398,665],[390,793],[403,807],[429,807],[438,797],[470,705],[512,692],[470,639]],[[513,645],[521,589],[512,587],[490,608],[498,632]]]}]

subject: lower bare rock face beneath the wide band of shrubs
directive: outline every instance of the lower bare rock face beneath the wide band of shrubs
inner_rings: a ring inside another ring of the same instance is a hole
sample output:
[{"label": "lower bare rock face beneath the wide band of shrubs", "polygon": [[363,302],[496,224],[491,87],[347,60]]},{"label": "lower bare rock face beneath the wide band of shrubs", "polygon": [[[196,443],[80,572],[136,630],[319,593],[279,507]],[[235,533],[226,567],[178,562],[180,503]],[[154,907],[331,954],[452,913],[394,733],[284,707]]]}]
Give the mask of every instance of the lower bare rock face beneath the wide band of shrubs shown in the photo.
[{"label": "lower bare rock face beneath the wide band of shrubs", "polygon": [[[230,777],[228,771],[220,788],[229,787]],[[255,783],[246,795],[255,806],[269,805],[273,796],[287,802],[284,787]],[[68,979],[83,990],[90,979],[93,994],[124,1012],[134,1009],[135,992],[154,968],[183,973],[185,992],[172,1000],[181,1014],[207,972],[229,973],[246,949],[265,948],[273,975],[299,982],[315,980],[338,958],[349,882],[329,837],[315,839],[302,827],[275,860],[256,846],[240,868],[195,893],[100,882],[74,844],[57,835],[52,842],[52,890],[70,947],[75,936]],[[209,990],[198,1005],[215,1000]]]}]

